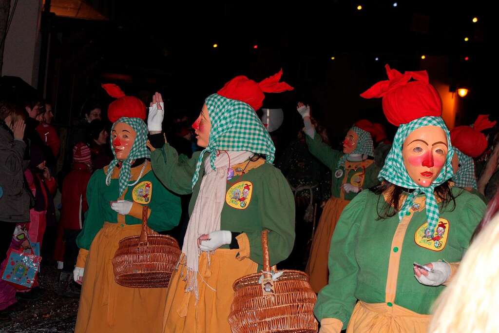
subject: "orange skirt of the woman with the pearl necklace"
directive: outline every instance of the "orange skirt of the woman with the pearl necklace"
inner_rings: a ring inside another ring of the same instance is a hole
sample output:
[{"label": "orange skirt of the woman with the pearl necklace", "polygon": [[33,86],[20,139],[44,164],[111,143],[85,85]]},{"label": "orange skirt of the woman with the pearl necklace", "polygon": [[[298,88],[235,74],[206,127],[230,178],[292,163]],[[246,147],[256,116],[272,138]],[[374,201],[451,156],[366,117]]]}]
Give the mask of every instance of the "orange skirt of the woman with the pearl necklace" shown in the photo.
[{"label": "orange skirt of the woman with the pearl necklace", "polygon": [[75,333],[161,332],[166,288],[127,288],[114,281],[118,242],[140,235],[141,225],[104,223],[85,264]]}]

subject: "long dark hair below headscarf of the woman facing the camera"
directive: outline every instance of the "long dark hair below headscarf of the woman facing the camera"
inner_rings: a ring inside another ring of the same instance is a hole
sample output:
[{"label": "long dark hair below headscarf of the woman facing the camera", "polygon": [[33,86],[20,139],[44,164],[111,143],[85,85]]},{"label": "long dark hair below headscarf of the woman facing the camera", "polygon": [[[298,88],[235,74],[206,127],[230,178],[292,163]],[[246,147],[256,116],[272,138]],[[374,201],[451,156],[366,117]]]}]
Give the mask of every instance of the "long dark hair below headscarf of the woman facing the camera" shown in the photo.
[{"label": "long dark hair below headscarf of the woman facing the camera", "polygon": [[[398,186],[392,184],[390,182],[384,181],[380,185],[373,187],[370,191],[374,192],[378,195],[378,203],[376,206],[376,211],[378,213],[379,219],[389,219],[392,216],[395,216],[400,209],[402,208],[401,195],[406,193],[412,193],[414,190],[406,189],[402,186]],[[383,197],[383,193],[386,191],[391,191],[389,194],[388,200],[385,201]],[[442,204],[444,208],[447,208],[449,203],[453,203],[453,207],[450,211],[453,211],[456,208],[456,197],[452,193],[452,187],[448,181],[442,183],[441,185],[435,188],[435,196],[442,200]],[[459,195],[458,195],[459,196]],[[380,207],[381,202],[381,207]]]}]

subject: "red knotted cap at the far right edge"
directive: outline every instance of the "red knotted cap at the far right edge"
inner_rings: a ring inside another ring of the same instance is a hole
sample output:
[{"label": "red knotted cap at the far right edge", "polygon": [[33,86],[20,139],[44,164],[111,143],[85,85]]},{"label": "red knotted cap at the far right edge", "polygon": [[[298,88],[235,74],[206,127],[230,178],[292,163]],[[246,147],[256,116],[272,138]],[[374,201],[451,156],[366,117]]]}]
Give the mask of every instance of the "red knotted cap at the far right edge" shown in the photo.
[{"label": "red knotted cap at the far right edge", "polygon": [[488,114],[478,116],[473,127],[458,126],[451,131],[452,145],[465,155],[479,157],[487,149],[487,137],[483,130],[496,125],[496,121],[490,121]]}]

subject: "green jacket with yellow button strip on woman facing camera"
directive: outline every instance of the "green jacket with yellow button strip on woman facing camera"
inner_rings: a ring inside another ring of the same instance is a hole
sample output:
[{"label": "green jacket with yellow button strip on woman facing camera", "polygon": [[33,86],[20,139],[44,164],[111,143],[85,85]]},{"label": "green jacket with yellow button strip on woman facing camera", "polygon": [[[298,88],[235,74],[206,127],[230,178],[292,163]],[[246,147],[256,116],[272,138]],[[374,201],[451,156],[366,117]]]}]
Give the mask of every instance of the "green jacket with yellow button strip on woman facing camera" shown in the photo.
[{"label": "green jacket with yellow button strip on woman facing camera", "polygon": [[[430,314],[445,287],[420,284],[414,277],[413,263],[461,261],[485,212],[484,202],[476,195],[457,187],[452,192],[456,205],[439,204],[439,225],[430,236],[425,234],[424,195],[416,198],[400,222],[398,214],[378,218],[377,207],[381,211],[386,203],[383,195],[362,191],[355,197],[343,210],[331,240],[329,284],[320,291],[314,309],[319,321],[335,318],[346,328],[357,300],[397,304],[418,314]],[[387,293],[390,283],[393,299]]]}]

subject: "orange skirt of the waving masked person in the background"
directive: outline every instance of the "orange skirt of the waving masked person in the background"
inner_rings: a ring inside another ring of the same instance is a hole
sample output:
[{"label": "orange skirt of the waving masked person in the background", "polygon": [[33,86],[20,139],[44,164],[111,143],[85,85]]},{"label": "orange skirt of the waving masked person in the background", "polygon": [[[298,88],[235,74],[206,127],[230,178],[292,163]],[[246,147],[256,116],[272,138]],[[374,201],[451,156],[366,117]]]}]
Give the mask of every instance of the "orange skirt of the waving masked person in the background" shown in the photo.
[{"label": "orange skirt of the waving masked person in the background", "polygon": [[315,230],[305,272],[310,277],[310,285],[315,293],[325,287],[329,281],[329,246],[333,237],[334,228],[341,212],[350,201],[331,197],[325,204]]}]

